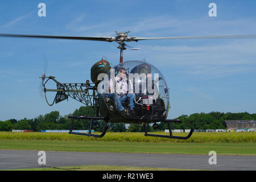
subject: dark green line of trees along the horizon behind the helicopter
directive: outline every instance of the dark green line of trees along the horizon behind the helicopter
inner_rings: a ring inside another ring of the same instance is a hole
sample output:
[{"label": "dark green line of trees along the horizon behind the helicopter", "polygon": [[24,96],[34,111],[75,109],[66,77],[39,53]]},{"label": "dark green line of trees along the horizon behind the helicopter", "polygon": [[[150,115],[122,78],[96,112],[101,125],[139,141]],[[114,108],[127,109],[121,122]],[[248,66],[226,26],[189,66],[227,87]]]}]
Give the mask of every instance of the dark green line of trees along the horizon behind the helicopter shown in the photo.
[{"label": "dark green line of trees along the horizon behind the helicopter", "polygon": [[[88,115],[93,116],[95,111],[90,106],[81,106],[69,115]],[[212,111],[210,113],[195,113],[191,115],[181,115],[178,118],[182,123],[171,123],[172,129],[225,129],[225,120],[256,120],[256,114],[244,113],[221,113],[218,111]],[[0,121],[0,131],[11,130],[69,130],[71,119],[68,115],[62,117],[59,111],[51,111],[51,113],[45,115],[39,115],[34,119],[8,119],[7,121]],[[90,121],[88,120],[76,120],[73,123],[73,129],[89,129]],[[147,126],[147,131],[164,131],[168,129],[166,122],[159,122],[159,128],[154,130],[151,125]],[[105,121],[94,121],[93,130],[103,131],[105,127]],[[143,132],[143,125],[130,124],[126,128],[125,123],[110,123],[109,131],[112,132]]]}]

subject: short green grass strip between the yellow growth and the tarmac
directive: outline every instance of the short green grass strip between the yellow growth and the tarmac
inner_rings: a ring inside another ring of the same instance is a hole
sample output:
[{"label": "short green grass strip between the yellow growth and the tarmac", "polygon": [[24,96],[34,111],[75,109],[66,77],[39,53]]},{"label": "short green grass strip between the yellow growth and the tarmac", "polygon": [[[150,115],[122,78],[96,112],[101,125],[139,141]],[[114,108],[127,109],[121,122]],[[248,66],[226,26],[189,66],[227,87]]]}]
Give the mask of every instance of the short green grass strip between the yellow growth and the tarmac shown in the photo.
[{"label": "short green grass strip between the yellow growth and the tarmac", "polygon": [[255,143],[146,143],[104,141],[0,140],[0,149],[145,154],[256,155]]}]

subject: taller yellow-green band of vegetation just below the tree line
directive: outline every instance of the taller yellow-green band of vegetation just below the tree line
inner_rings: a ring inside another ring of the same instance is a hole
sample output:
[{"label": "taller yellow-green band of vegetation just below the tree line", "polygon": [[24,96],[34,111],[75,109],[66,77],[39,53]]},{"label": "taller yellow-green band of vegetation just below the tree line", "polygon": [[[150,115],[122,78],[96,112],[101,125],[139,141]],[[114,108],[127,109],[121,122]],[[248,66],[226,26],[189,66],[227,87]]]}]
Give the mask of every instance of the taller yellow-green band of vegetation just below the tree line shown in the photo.
[{"label": "taller yellow-green band of vegetation just below the tree line", "polygon": [[[167,135],[167,133],[152,133]],[[186,136],[188,133],[174,133]],[[68,133],[15,133],[0,132],[0,140],[58,140],[58,141],[104,141],[104,142],[146,142],[146,143],[256,143],[256,132],[236,133],[193,133],[187,140],[159,137],[144,137],[144,133],[106,133],[102,138],[71,135]]]}]

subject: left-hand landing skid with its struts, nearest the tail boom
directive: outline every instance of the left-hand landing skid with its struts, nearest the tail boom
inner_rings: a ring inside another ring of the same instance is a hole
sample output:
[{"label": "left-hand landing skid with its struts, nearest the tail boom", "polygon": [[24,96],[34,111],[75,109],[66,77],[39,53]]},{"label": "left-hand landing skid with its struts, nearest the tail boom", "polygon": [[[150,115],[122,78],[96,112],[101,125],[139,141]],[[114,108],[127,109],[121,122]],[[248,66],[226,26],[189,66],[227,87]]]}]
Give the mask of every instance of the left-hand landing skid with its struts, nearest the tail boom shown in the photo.
[{"label": "left-hand landing skid with its struts, nearest the tail boom", "polygon": [[[101,138],[101,137],[104,137],[104,135],[106,134],[106,131],[107,131],[108,128],[109,128],[108,119],[106,119],[106,118],[104,118],[104,117],[93,117],[93,116],[84,116],[84,115],[81,115],[81,116],[69,115],[68,118],[71,118],[71,125],[70,125],[69,134],[84,135],[84,136],[87,136],[87,137],[97,137],[97,138]],[[87,133],[73,132],[72,130],[73,130],[73,122],[74,122],[74,119],[90,119],[89,133],[87,134]],[[105,120],[105,121],[106,121],[105,129],[104,129],[104,131],[103,131],[100,135],[92,134],[92,122],[93,122],[93,120],[96,120],[96,119],[102,119],[102,120]]]}]

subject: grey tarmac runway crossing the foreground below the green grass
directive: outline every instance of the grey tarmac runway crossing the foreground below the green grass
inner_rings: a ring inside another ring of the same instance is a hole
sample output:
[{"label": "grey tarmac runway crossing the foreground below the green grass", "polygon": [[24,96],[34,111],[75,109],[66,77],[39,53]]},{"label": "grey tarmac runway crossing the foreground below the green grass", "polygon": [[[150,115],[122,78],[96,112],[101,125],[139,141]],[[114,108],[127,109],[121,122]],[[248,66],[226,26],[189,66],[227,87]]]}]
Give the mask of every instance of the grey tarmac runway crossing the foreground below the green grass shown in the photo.
[{"label": "grey tarmac runway crossing the foreground below the green grass", "polygon": [[0,170],[96,164],[225,171],[256,170],[256,156],[217,155],[217,164],[210,165],[211,156],[209,155],[45,151],[46,164],[40,165],[38,152],[35,150],[0,150]]}]

